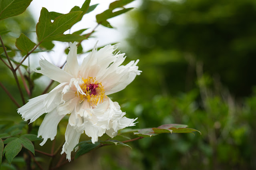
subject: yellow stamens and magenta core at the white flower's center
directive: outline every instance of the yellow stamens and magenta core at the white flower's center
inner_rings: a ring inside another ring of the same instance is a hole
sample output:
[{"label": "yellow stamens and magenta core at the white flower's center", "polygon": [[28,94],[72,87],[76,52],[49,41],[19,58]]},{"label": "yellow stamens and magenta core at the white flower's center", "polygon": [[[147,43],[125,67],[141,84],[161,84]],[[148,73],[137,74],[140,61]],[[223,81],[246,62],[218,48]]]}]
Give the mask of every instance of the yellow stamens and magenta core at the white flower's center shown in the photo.
[{"label": "yellow stamens and magenta core at the white flower's center", "polygon": [[100,103],[103,101],[103,97],[106,96],[104,92],[105,90],[103,89],[101,83],[95,81],[95,79],[96,78],[93,77],[88,77],[87,79],[82,78],[84,83],[80,87],[86,95],[79,93],[81,102],[87,99],[87,101],[91,104],[97,105],[98,102]]}]

